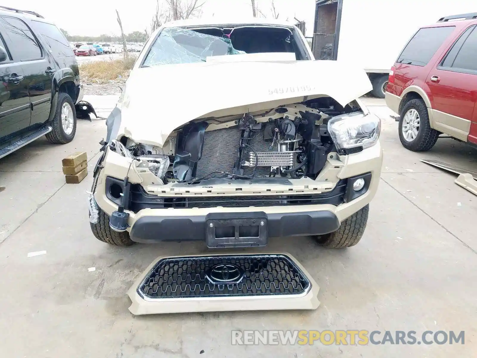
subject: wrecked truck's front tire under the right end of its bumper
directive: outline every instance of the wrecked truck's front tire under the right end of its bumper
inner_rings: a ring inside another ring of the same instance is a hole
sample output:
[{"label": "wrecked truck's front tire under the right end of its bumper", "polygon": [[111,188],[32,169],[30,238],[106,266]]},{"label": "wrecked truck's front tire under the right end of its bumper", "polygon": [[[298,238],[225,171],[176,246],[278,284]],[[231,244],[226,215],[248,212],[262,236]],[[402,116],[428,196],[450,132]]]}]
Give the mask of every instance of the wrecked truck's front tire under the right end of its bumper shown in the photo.
[{"label": "wrecked truck's front tire under the right end of its bumper", "polygon": [[369,204],[342,221],[335,232],[317,236],[318,243],[330,249],[343,249],[356,245],[366,229],[368,213]]}]

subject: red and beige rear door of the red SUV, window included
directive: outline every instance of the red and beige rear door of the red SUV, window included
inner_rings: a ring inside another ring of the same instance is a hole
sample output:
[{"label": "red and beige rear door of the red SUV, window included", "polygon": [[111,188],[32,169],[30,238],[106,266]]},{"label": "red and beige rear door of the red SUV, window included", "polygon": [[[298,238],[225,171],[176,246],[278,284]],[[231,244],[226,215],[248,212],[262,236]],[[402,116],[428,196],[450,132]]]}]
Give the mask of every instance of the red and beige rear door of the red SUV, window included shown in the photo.
[{"label": "red and beige rear door of the red SUV, window included", "polygon": [[470,26],[428,74],[434,127],[453,137],[477,142],[477,29]]}]

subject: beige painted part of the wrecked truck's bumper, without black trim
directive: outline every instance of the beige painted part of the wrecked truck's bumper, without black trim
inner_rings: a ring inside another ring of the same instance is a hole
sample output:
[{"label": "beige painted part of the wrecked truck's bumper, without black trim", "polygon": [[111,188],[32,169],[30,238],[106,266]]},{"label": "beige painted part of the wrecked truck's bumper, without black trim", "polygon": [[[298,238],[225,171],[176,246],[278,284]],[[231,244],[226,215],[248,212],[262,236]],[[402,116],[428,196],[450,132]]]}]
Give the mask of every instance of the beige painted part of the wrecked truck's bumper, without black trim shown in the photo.
[{"label": "beige painted part of the wrecked truck's bumper, without black trim", "polygon": [[[134,165],[130,166],[131,159],[124,158],[121,155],[114,153],[109,148],[106,149],[106,157],[104,158],[103,166],[104,169],[101,170],[99,173],[99,178],[97,182],[97,187],[94,193],[94,198],[98,203],[99,207],[106,212],[106,214],[111,215],[111,213],[117,210],[117,205],[114,202],[110,201],[106,198],[105,194],[105,178],[107,176],[112,176],[114,178],[123,179],[126,174],[129,177],[129,180],[132,183],[141,183],[145,190],[147,190],[148,186],[145,185],[144,180],[141,178],[139,173],[137,172],[137,168]],[[331,158],[333,157],[333,158]],[[349,202],[343,203],[339,206],[333,206],[329,204],[321,204],[321,205],[290,205],[290,206],[268,206],[268,207],[260,207],[260,211],[263,211],[267,214],[271,213],[294,213],[294,212],[305,212],[305,211],[332,211],[337,216],[338,220],[341,222],[344,219],[348,218],[349,216],[353,215],[356,211],[359,211],[365,205],[369,204],[369,202],[373,199],[376,190],[378,188],[379,178],[381,175],[381,167],[383,164],[383,149],[379,141],[370,148],[364,149],[360,153],[351,154],[347,156],[337,156],[336,153],[330,153],[328,155],[328,162],[326,163],[325,167],[321,170],[319,177],[313,181],[314,186],[308,186],[306,190],[312,190],[313,193],[321,192],[321,191],[330,191],[332,188],[335,187],[336,183],[340,179],[353,177],[355,175],[371,172],[372,179],[371,184],[368,191],[363,194],[361,197]],[[131,168],[130,168],[131,167]],[[129,172],[128,172],[129,170]],[[296,194],[303,194],[306,193],[304,185],[302,185],[297,179],[296,184],[293,186],[295,191],[291,193]],[[293,182],[293,179],[290,179]],[[331,184],[331,185],[330,185]],[[151,184],[152,185],[152,184]],[[251,186],[252,188],[255,186]],[[272,186],[270,186],[271,188]],[[313,188],[317,188],[316,191]],[[260,190],[267,189],[267,188],[259,188],[257,187],[256,195],[263,195]],[[287,187],[288,189],[288,187]],[[234,189],[235,190],[235,189]],[[190,190],[189,190],[190,191]],[[266,192],[267,193],[267,192]],[[268,192],[268,195],[274,195],[276,192]],[[290,193],[287,193],[290,194]],[[196,196],[197,194],[194,193],[185,193],[181,194],[182,196]],[[226,191],[223,193],[218,194],[216,193],[214,196],[220,195],[229,195]],[[241,193],[243,195],[243,192]],[[247,193],[249,195],[249,193]],[[248,211],[257,211],[257,207],[247,207],[247,208],[224,208],[224,207],[216,207],[216,208],[183,208],[183,209],[143,209],[134,213],[132,211],[129,212],[129,219],[128,231],[134,226],[135,222],[144,216],[205,216],[211,212],[248,212]]]}]

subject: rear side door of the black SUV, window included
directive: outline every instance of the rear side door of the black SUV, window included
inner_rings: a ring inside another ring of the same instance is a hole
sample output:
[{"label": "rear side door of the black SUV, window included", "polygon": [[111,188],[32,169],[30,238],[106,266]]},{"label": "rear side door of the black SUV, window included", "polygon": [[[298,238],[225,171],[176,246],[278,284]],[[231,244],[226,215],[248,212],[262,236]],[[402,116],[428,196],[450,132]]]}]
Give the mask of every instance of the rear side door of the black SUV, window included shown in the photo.
[{"label": "rear side door of the black SUV, window included", "polygon": [[32,107],[29,125],[40,126],[50,116],[55,65],[51,63],[51,56],[41,48],[38,39],[25,22],[0,16],[0,24],[10,39],[7,42],[14,44],[10,49],[13,60],[21,61],[25,73],[24,82],[28,86]]}]

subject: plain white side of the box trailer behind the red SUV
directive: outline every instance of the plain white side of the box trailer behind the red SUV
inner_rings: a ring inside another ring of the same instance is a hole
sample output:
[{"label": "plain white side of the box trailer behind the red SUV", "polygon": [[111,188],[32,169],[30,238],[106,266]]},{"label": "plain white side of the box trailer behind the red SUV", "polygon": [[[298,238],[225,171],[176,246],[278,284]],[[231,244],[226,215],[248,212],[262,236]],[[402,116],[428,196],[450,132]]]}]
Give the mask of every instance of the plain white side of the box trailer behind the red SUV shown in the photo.
[{"label": "plain white side of the box trailer behind the red SUV", "polygon": [[343,0],[338,60],[389,71],[420,27],[476,11],[475,0]]}]

